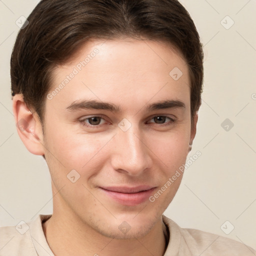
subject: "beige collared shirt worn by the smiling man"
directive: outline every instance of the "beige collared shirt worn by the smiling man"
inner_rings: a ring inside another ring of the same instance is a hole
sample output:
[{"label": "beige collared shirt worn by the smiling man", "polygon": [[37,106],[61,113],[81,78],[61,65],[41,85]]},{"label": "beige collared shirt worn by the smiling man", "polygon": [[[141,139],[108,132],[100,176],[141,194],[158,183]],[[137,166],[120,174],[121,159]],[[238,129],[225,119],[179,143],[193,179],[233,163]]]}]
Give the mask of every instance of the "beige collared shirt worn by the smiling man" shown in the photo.
[{"label": "beige collared shirt worn by the smiling man", "polygon": [[[42,222],[51,215],[39,214],[17,226],[0,227],[0,256],[54,256],[42,230]],[[203,232],[181,228],[162,216],[167,227],[168,246],[164,256],[255,256],[256,251],[243,243]]]}]

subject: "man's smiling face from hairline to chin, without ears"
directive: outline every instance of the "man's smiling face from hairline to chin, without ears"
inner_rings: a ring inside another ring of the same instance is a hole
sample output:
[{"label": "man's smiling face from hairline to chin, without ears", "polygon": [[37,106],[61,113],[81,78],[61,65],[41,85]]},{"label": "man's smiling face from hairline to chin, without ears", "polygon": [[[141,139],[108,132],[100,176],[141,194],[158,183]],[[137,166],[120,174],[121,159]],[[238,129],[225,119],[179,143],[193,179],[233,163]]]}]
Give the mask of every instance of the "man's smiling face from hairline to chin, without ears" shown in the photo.
[{"label": "man's smiling face from hairline to chin, without ears", "polygon": [[90,41],[56,67],[43,136],[53,214],[115,238],[159,223],[194,135],[188,84],[186,62],[156,41]]}]

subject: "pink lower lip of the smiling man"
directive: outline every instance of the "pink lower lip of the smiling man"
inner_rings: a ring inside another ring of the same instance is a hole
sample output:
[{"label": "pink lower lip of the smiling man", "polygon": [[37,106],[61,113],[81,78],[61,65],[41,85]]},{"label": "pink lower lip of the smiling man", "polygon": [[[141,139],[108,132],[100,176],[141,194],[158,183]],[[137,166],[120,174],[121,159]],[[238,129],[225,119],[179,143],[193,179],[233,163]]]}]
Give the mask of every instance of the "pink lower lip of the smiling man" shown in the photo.
[{"label": "pink lower lip of the smiling man", "polygon": [[154,190],[154,187],[149,190],[140,191],[137,193],[120,193],[120,192],[106,190],[103,188],[101,188],[101,190],[103,190],[106,195],[108,195],[118,203],[123,205],[133,206],[148,200],[150,194]]}]

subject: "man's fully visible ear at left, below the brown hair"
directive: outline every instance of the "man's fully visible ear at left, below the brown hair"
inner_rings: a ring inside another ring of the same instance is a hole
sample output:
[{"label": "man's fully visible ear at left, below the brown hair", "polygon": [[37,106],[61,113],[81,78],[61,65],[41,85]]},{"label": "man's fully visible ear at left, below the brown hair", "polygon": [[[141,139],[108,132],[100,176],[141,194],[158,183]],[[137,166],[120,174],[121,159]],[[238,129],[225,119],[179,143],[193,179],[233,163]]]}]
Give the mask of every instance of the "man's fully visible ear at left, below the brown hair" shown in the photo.
[{"label": "man's fully visible ear at left, below the brown hair", "polygon": [[20,139],[30,153],[44,155],[42,127],[39,118],[25,105],[22,94],[15,94],[12,101],[12,110]]}]

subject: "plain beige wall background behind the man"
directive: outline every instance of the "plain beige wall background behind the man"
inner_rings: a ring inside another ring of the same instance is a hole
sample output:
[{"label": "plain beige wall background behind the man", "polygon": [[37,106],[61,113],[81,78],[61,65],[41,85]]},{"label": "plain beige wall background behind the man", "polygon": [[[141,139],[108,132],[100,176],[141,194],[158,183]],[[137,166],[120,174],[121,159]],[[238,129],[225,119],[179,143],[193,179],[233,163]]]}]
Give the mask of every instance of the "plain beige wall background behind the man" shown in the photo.
[{"label": "plain beige wall background behind the man", "polygon": [[[41,156],[19,139],[12,115],[9,58],[19,27],[36,0],[0,0],[0,225],[52,212],[50,176]],[[192,151],[165,215],[256,248],[256,1],[181,0],[204,44],[205,76]],[[224,18],[228,15],[231,19]],[[224,18],[224,19],[223,19]],[[221,20],[223,20],[221,22]],[[223,26],[223,25],[224,26]],[[229,131],[221,123],[228,118]],[[229,126],[230,128],[230,126]],[[224,224],[227,235],[220,226]]]}]

